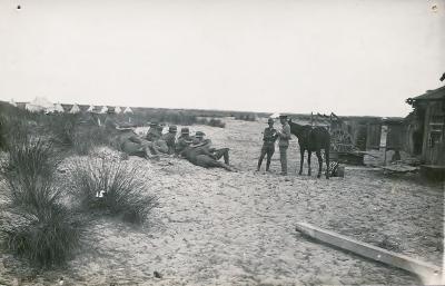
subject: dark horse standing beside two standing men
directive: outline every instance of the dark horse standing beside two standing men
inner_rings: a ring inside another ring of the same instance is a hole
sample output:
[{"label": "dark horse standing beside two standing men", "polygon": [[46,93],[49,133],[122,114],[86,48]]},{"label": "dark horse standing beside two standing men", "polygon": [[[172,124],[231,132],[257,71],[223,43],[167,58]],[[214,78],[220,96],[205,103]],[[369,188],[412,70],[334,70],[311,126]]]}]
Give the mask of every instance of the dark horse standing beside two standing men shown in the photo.
[{"label": "dark horse standing beside two standing men", "polygon": [[305,160],[305,151],[307,150],[307,164],[308,164],[308,176],[310,176],[310,156],[312,152],[315,151],[318,158],[318,175],[317,178],[322,177],[322,166],[323,166],[323,157],[322,149],[325,150],[326,155],[326,179],[329,178],[329,147],[330,147],[330,135],[323,127],[312,127],[312,126],[303,126],[296,122],[293,122],[289,119],[290,134],[295,135],[298,138],[299,145],[299,154],[300,154],[300,165],[299,165],[299,175],[303,174],[303,162]]}]

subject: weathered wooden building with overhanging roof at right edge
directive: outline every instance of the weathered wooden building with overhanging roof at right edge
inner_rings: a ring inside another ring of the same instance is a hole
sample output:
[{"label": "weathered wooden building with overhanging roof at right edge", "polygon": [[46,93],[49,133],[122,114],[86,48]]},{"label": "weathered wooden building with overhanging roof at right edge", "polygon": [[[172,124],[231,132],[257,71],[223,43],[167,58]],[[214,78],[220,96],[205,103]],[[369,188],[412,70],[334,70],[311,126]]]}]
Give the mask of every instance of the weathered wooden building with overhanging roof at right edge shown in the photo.
[{"label": "weathered wooden building with overhanging roof at right edge", "polygon": [[422,138],[414,138],[414,141],[422,140],[422,164],[424,168],[435,172],[441,171],[443,176],[445,171],[445,87],[408,98],[406,102],[413,106],[412,117],[418,121],[417,134],[421,134]]}]

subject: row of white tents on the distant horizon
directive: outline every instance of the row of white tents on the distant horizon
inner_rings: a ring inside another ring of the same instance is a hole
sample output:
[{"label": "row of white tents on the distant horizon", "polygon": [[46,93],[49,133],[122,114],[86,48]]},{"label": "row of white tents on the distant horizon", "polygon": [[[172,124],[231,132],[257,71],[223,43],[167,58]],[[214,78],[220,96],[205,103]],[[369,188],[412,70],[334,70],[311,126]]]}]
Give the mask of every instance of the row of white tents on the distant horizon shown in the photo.
[{"label": "row of white tents on the distant horizon", "polygon": [[[18,106],[13,99],[9,101],[10,105],[12,106]],[[81,112],[81,109],[79,105],[75,103],[70,108],[63,108],[61,103],[52,103],[44,97],[36,97],[34,100],[31,102],[28,102],[24,105],[24,109],[31,112],[44,112],[44,114],[55,114],[55,112],[69,112],[69,114],[79,114]],[[122,110],[120,107],[95,107],[95,106],[89,106],[88,109],[86,110],[87,112],[92,112],[92,114],[132,114],[132,109],[130,107],[127,107]]]}]

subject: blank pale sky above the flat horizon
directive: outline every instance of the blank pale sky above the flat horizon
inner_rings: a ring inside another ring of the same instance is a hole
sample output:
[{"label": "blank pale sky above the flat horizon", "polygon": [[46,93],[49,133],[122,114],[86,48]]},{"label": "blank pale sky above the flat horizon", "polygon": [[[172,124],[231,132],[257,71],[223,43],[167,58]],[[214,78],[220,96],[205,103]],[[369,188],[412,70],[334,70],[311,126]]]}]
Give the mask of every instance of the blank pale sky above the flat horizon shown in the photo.
[{"label": "blank pale sky above the flat horizon", "polygon": [[445,0],[0,0],[0,99],[406,116],[444,28]]}]

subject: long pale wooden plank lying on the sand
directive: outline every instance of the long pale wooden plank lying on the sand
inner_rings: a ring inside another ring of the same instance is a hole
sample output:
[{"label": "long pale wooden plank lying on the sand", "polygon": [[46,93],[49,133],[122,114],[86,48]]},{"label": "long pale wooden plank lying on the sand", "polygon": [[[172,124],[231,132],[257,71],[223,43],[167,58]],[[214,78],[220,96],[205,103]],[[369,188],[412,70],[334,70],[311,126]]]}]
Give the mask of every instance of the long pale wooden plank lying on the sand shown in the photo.
[{"label": "long pale wooden plank lying on the sand", "polygon": [[353,252],[363,257],[408,270],[422,276],[425,279],[428,279],[428,282],[433,280],[434,284],[444,282],[443,272],[438,266],[421,262],[402,254],[396,254],[374,245],[362,243],[306,223],[298,223],[296,228],[298,231],[310,236],[312,238],[334,245],[342,249]]}]

